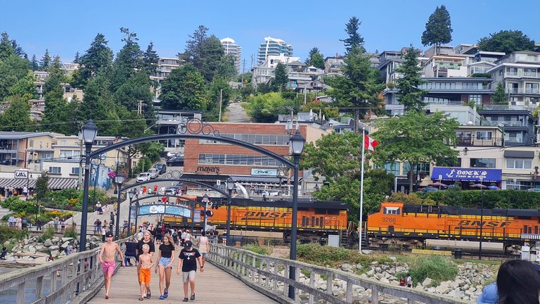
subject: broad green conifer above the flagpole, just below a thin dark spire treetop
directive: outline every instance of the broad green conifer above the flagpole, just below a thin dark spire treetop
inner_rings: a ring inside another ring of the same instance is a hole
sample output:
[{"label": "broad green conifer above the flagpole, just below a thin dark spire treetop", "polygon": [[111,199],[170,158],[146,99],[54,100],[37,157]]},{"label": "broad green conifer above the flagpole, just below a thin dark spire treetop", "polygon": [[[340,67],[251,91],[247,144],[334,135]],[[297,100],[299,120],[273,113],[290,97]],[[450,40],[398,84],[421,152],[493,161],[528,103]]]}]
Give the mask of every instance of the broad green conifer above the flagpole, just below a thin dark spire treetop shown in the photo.
[{"label": "broad green conifer above the flagpole, just below a thin dark spire treetop", "polygon": [[380,84],[379,72],[371,68],[369,57],[364,56],[361,49],[356,47],[347,53],[343,61],[343,75],[328,77],[326,80],[333,88],[328,91],[334,99],[332,106],[358,107],[361,115],[369,110],[375,113],[380,111],[382,100],[379,94],[385,84]]}]

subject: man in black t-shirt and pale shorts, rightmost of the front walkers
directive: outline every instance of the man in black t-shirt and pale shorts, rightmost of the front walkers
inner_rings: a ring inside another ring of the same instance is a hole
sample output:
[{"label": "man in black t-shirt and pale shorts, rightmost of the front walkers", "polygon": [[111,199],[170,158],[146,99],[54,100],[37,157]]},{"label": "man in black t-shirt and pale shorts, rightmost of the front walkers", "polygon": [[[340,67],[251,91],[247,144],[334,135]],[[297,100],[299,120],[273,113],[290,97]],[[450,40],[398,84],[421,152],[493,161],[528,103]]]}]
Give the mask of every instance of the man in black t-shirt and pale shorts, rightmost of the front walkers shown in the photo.
[{"label": "man in black t-shirt and pale shorts, rightmost of the front walkers", "polygon": [[203,259],[197,249],[193,248],[191,241],[186,241],[184,249],[180,251],[178,267],[176,274],[180,274],[182,268],[182,279],[184,281],[184,302],[188,301],[188,283],[191,286],[190,300],[195,300],[195,272],[197,271],[197,262],[199,261],[200,272],[204,271]]}]

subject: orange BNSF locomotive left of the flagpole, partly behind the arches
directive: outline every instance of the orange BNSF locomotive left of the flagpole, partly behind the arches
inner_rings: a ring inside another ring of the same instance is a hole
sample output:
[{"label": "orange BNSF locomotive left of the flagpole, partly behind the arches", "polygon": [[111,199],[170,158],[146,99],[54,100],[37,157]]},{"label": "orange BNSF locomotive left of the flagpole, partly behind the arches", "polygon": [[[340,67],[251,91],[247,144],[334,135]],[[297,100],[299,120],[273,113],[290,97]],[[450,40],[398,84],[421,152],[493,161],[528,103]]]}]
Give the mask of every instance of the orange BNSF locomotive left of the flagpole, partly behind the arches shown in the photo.
[{"label": "orange BNSF locomotive left of the flagpole, partly behind the arches", "polygon": [[[197,201],[201,201],[200,197]],[[226,229],[226,201],[214,201],[219,207],[209,209],[213,215],[207,217],[208,224],[217,229]],[[252,201],[245,198],[233,198],[231,201],[231,235],[268,236],[273,238],[290,238],[292,208],[290,201]],[[195,212],[203,211],[197,206]],[[340,234],[347,230],[347,212],[349,205],[333,201],[298,201],[297,228],[300,241],[319,242],[328,234]],[[201,213],[202,214],[202,213]],[[201,222],[203,222],[203,217]],[[165,224],[171,227],[190,227],[191,219],[185,217],[165,216]],[[202,224],[195,222],[195,227]],[[236,232],[235,232],[236,231]]]}]

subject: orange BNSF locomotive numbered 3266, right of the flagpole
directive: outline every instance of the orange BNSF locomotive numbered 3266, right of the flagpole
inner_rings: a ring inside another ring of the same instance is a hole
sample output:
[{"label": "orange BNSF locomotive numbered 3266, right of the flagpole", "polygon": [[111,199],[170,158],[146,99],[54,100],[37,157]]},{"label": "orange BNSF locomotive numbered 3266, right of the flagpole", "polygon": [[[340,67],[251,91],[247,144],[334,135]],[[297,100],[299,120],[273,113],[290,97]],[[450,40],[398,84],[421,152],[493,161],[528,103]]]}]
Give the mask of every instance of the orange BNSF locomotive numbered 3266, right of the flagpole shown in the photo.
[{"label": "orange BNSF locomotive numbered 3266, right of the flagpole", "polygon": [[[483,213],[483,214],[482,214]],[[371,243],[421,245],[425,239],[480,240],[520,245],[540,236],[540,211],[530,209],[470,209],[452,206],[382,203],[368,216]],[[505,246],[505,247],[506,247]]]}]

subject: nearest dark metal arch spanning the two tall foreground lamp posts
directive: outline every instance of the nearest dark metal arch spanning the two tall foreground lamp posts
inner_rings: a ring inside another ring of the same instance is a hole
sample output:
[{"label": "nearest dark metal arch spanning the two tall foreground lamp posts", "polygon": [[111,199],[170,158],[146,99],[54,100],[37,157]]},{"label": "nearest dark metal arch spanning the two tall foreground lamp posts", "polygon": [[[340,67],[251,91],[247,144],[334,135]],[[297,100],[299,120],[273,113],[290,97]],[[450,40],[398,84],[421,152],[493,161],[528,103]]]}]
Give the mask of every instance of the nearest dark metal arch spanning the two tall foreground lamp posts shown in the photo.
[{"label": "nearest dark metal arch spanning the two tall foreground lamp posts", "polygon": [[113,151],[117,148],[122,148],[124,146],[131,146],[132,144],[141,144],[148,141],[160,141],[163,139],[211,139],[212,141],[222,141],[226,144],[233,144],[235,146],[241,146],[243,148],[247,148],[249,150],[259,152],[261,154],[264,154],[265,156],[269,156],[276,160],[280,160],[281,163],[285,164],[287,167],[290,167],[291,169],[294,169],[295,167],[295,164],[292,161],[272,151],[268,151],[265,148],[255,146],[254,144],[249,144],[245,141],[239,141],[237,139],[230,139],[226,137],[219,137],[219,136],[205,135],[205,134],[160,134],[160,135],[150,135],[148,137],[139,137],[136,139],[128,139],[127,141],[121,141],[117,144],[112,144],[110,146],[105,146],[103,148],[100,148],[90,153],[88,158],[90,159],[96,158],[103,153],[106,153],[108,151]]}]

